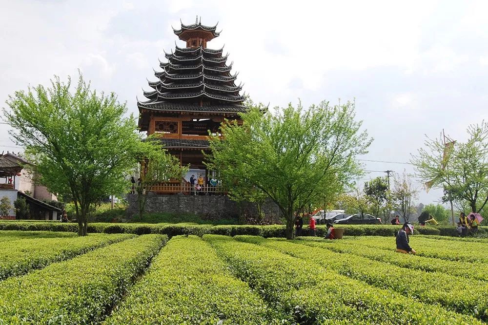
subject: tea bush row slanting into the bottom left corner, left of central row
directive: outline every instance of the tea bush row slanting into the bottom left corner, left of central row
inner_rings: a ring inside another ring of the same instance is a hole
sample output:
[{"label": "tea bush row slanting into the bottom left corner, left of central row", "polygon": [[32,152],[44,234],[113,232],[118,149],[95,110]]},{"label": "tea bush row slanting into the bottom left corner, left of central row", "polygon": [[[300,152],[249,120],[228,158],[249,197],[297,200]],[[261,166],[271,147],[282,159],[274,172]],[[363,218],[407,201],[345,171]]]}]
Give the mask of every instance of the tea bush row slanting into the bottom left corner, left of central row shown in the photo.
[{"label": "tea bush row slanting into the bottom left corner, left of central row", "polygon": [[166,240],[139,236],[7,279],[0,286],[0,323],[98,324]]}]

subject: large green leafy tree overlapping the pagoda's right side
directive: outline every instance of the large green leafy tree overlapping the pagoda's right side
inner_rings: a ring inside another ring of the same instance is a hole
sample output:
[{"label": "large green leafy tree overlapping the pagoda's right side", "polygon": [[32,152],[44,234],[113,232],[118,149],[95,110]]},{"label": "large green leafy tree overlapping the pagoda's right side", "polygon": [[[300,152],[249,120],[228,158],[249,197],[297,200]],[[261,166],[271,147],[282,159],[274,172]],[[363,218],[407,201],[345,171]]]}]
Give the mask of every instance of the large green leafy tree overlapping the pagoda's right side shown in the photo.
[{"label": "large green leafy tree overlapping the pagoda's right side", "polygon": [[287,239],[293,238],[295,211],[323,204],[361,174],[355,157],[372,141],[360,131],[351,102],[309,109],[290,104],[275,114],[252,105],[242,119],[242,126],[225,121],[223,137],[211,137],[207,166],[220,172],[230,195],[255,187],[274,201]]}]

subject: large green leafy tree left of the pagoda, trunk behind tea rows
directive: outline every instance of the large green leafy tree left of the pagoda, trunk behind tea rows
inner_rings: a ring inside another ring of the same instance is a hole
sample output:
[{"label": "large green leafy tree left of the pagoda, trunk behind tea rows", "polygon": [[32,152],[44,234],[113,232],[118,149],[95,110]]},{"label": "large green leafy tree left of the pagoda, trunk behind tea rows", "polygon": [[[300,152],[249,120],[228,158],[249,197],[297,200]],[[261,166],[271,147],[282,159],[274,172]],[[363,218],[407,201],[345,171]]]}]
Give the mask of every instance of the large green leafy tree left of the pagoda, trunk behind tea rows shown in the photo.
[{"label": "large green leafy tree left of the pagoda, trunk behind tea rows", "polygon": [[51,85],[28,88],[9,96],[3,109],[15,142],[26,149],[31,168],[49,191],[71,197],[78,234],[86,235],[90,205],[129,189],[126,177],[138,163],[141,139],[133,116],[114,93],[90,89],[80,75],[55,76]]}]

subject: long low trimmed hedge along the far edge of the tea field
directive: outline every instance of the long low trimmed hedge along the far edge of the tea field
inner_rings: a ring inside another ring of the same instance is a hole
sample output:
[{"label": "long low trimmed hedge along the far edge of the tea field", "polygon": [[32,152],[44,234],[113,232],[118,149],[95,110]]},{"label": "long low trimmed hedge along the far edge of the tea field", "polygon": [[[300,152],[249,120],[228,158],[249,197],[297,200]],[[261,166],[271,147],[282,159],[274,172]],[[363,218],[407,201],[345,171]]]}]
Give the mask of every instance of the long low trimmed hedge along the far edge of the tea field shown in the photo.
[{"label": "long low trimmed hedge along the far edge of the tea field", "polygon": [[[337,228],[344,229],[345,236],[394,236],[400,229],[392,225],[338,225]],[[34,222],[34,221],[1,221],[0,230],[45,230],[45,231],[70,231],[77,232],[78,224],[60,222]],[[166,234],[169,237],[177,235],[217,234],[217,235],[252,235],[262,237],[285,237],[285,226],[251,226],[251,225],[194,225],[194,224],[140,224],[140,223],[90,223],[88,232],[105,233],[135,233]],[[316,235],[325,236],[326,226],[319,225],[316,228]],[[416,227],[416,233],[423,235],[457,235],[453,227]],[[308,227],[303,230],[304,235],[308,233]],[[488,227],[479,227],[480,234],[488,234]]]}]

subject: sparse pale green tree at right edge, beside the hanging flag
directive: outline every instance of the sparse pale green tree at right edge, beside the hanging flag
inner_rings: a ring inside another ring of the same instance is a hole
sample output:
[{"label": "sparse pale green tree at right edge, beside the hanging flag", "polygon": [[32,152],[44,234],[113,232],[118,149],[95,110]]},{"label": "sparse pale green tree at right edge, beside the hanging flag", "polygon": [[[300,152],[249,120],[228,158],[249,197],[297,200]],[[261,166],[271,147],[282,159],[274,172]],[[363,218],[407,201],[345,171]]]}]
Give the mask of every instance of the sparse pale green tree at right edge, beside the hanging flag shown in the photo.
[{"label": "sparse pale green tree at right edge, beside the hanging flag", "polygon": [[427,138],[412,163],[428,188],[444,190],[444,200],[479,212],[488,203],[488,123],[470,125],[467,133],[467,142],[448,145]]}]

